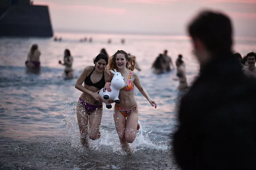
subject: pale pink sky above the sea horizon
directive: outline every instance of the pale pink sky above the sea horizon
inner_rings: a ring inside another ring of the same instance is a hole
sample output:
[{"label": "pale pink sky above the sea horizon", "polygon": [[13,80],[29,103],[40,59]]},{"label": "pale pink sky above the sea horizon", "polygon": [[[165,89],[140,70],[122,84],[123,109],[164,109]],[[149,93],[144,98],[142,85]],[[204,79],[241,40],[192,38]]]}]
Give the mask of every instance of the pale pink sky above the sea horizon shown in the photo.
[{"label": "pale pink sky above the sea horizon", "polygon": [[235,35],[256,36],[256,0],[34,0],[48,5],[54,30],[186,34],[203,8],[228,14]]}]

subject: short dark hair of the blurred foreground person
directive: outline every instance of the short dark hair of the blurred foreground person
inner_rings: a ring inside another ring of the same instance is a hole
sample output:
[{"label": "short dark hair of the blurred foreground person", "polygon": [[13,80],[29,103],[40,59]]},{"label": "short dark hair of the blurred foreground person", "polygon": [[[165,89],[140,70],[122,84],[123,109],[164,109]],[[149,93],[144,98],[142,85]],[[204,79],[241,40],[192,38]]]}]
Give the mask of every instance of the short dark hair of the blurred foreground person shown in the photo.
[{"label": "short dark hair of the blurred foreground person", "polygon": [[231,53],[232,23],[228,16],[205,10],[192,20],[187,31],[192,39],[198,38],[208,51],[217,57],[223,53]]}]

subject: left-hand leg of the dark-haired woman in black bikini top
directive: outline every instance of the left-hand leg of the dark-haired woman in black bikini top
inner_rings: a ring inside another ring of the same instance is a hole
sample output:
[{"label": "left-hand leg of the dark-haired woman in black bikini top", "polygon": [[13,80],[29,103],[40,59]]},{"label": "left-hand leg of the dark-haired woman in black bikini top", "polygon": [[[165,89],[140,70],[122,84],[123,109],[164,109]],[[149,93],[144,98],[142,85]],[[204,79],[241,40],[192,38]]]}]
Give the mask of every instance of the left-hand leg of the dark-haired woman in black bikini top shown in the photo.
[{"label": "left-hand leg of the dark-haired woman in black bikini top", "polygon": [[84,106],[79,101],[77,101],[77,121],[81,135],[81,144],[88,148],[88,139],[86,138],[88,134],[88,114],[86,113]]}]

